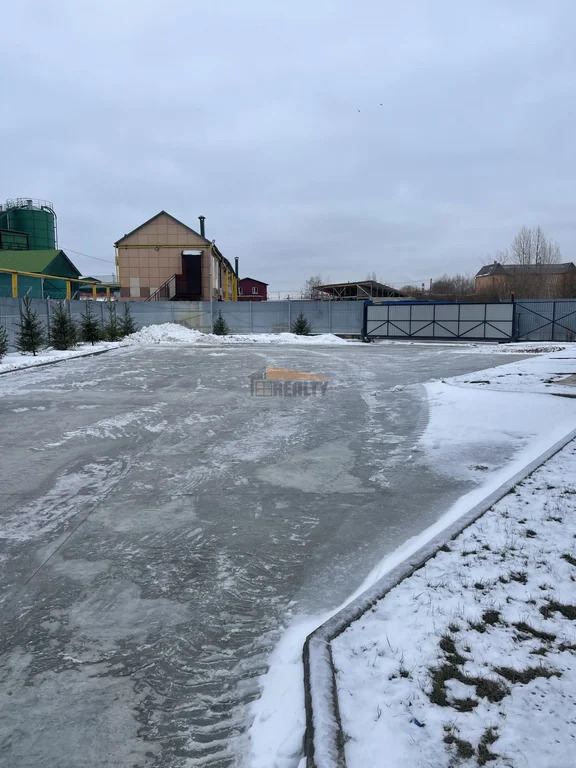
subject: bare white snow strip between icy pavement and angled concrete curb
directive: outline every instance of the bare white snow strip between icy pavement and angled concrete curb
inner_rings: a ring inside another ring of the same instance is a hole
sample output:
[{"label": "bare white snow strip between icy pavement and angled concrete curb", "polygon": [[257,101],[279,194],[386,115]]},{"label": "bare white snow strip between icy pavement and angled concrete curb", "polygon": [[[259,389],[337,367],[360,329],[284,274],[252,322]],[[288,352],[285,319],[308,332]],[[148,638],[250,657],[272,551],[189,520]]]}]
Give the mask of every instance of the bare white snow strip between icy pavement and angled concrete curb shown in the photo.
[{"label": "bare white snow strip between icy pavement and angled concrete curb", "polygon": [[[454,345],[451,346],[453,348]],[[481,345],[482,351],[485,346],[489,345]],[[505,349],[510,350],[510,347],[506,345]],[[525,345],[518,347],[527,351]],[[473,481],[475,487],[448,509],[439,521],[388,554],[358,585],[344,605],[576,428],[576,407],[568,411],[567,417],[563,397],[545,396],[576,394],[574,387],[550,384],[576,372],[576,348],[555,344],[543,347],[538,344],[531,349],[539,353],[548,351],[548,354],[425,385],[430,405],[429,419],[422,436],[413,446],[412,458],[423,467],[433,467],[447,478]],[[396,386],[393,390],[400,395],[403,387]],[[474,461],[470,461],[471,456],[474,456]],[[425,509],[422,514],[426,514]],[[270,671],[263,678],[263,694],[253,706],[255,720],[250,763],[253,768],[270,765],[295,768],[298,765],[305,722],[300,669],[302,646],[310,632],[342,607],[322,615],[296,616],[287,627],[271,658]],[[385,638],[383,642],[386,642]],[[369,645],[370,641],[366,643]],[[367,663],[366,658],[364,663]],[[353,681],[350,685],[354,685]],[[370,699],[369,692],[365,696]],[[376,706],[371,703],[372,709]],[[372,709],[358,709],[358,718],[366,720],[368,730],[374,726]],[[409,725],[408,734],[414,727],[414,724]],[[380,756],[387,754],[387,746],[378,744],[377,749],[378,759],[374,755],[371,759],[362,758],[363,765],[380,764]],[[354,762],[350,765],[355,768],[359,764]],[[395,768],[393,762],[390,764]],[[545,764],[541,763],[542,766]],[[435,763],[431,760],[419,765]],[[572,764],[558,765],[567,768]]]}]

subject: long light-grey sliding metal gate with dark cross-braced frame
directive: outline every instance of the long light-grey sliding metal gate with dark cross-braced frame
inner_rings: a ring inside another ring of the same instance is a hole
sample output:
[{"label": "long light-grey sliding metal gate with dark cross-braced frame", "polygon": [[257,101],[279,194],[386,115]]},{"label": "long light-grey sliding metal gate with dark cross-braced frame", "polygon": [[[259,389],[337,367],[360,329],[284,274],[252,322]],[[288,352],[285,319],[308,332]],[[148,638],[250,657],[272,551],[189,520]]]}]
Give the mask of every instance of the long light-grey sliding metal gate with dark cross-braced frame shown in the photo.
[{"label": "long light-grey sliding metal gate with dark cross-braced frame", "polygon": [[365,339],[510,341],[514,304],[387,302],[364,305]]}]

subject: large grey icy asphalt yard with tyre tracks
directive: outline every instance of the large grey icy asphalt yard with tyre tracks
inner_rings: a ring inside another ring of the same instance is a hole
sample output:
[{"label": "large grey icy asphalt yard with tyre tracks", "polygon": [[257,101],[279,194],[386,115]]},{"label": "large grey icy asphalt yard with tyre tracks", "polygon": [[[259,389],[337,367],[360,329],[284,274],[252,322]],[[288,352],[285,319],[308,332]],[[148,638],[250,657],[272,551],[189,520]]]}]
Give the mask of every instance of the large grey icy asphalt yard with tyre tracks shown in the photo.
[{"label": "large grey icy asphalt yard with tyre tracks", "polygon": [[[413,453],[424,390],[394,388],[496,364],[180,346],[1,377],[0,765],[242,765],[287,611],[341,603],[468,488]],[[265,365],[328,392],[251,397]]]}]

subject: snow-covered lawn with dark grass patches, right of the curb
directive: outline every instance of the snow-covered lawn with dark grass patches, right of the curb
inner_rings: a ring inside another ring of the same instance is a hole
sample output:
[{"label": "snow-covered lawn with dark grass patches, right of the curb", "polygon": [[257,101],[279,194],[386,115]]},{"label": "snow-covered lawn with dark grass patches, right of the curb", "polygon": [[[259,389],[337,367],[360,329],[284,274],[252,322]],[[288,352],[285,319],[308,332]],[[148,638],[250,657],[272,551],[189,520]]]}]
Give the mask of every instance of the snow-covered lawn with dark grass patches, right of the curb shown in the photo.
[{"label": "snow-covered lawn with dark grass patches, right of the curb", "polygon": [[576,765],[576,446],[332,643],[349,768]]}]

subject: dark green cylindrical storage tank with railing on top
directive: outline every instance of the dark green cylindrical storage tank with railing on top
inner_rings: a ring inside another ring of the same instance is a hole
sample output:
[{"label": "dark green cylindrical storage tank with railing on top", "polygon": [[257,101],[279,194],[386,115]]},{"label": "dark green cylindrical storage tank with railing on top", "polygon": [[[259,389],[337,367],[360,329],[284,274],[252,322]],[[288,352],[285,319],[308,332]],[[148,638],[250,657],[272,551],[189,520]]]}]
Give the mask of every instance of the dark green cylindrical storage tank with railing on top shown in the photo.
[{"label": "dark green cylindrical storage tank with railing on top", "polygon": [[19,197],[0,206],[0,228],[25,232],[31,251],[58,248],[56,214],[48,200]]}]

